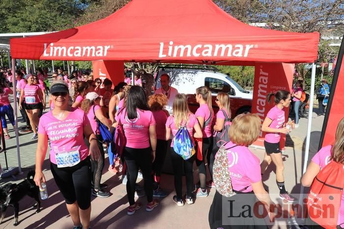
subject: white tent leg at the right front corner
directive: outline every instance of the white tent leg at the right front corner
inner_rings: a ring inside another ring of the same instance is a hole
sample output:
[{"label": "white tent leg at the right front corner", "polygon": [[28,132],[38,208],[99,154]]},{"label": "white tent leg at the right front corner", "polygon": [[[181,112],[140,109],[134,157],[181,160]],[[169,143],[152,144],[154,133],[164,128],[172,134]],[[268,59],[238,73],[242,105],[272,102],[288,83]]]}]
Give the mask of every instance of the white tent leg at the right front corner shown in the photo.
[{"label": "white tent leg at the right front corner", "polygon": [[[306,149],[305,149],[305,159],[303,161],[303,169],[302,175],[306,173],[307,170],[307,163],[308,163],[308,155],[310,150],[310,142],[311,142],[311,128],[312,128],[312,116],[313,116],[313,102],[314,102],[314,87],[315,87],[315,68],[316,65],[313,63],[312,65],[312,76],[311,76],[311,95],[310,95],[310,108],[309,108],[309,115],[308,115],[308,127],[307,127],[307,136],[306,136]],[[303,203],[303,191],[304,187],[301,185],[300,190],[300,199],[299,204],[302,206]]]}]

